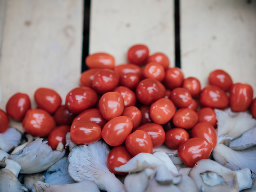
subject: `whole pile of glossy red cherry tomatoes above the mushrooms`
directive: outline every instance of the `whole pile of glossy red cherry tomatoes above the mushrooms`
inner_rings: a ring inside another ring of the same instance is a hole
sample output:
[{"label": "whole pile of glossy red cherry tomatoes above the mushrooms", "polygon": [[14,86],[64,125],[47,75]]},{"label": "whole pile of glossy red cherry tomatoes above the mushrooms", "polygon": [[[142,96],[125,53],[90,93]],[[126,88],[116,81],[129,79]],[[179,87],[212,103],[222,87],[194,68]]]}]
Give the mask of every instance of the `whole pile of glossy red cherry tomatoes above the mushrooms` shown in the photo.
[{"label": "whole pile of glossy red cherry tomatoes above the mushrooms", "polygon": [[230,106],[232,111],[242,112],[251,106],[256,117],[252,87],[233,84],[223,70],[211,72],[209,85],[201,90],[199,80],[184,79],[179,68],[169,68],[167,56],[149,56],[145,45],[129,48],[127,59],[129,64],[115,65],[109,54],[89,55],[89,70],[81,74],[81,86],[67,94],[65,105],[49,88],[36,90],[37,109],[31,109],[26,94],[16,93],[9,99],[6,113],[0,110],[0,133],[8,129],[9,116],[22,120],[25,132],[32,136],[48,136],[54,150],[59,142],[65,145],[67,132],[75,144],[103,138],[113,147],[107,156],[108,168],[123,174],[114,167],[140,152],[152,153],[153,147],[163,143],[178,149],[188,167],[207,159],[217,140],[214,108]]}]

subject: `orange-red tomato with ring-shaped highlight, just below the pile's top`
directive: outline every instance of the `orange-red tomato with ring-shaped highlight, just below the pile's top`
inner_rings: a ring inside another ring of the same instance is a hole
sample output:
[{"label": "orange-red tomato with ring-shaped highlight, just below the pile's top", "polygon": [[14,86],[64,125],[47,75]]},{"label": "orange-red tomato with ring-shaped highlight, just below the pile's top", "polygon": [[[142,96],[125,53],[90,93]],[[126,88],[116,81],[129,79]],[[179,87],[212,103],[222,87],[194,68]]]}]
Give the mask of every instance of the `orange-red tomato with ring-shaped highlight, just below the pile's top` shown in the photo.
[{"label": "orange-red tomato with ring-shaped highlight, just below the pile's top", "polygon": [[152,78],[155,80],[162,81],[165,76],[164,67],[158,63],[149,63],[146,64],[143,69],[144,78]]}]

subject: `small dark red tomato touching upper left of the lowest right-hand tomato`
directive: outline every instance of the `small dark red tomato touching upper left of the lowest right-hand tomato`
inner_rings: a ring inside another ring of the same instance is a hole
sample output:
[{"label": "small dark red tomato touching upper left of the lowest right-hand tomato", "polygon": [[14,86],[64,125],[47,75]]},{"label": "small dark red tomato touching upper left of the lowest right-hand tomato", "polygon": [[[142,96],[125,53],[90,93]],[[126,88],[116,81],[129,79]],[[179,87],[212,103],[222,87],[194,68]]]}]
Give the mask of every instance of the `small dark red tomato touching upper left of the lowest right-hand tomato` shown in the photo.
[{"label": "small dark red tomato touching upper left of the lowest right-hand tomato", "polygon": [[178,149],[187,139],[189,134],[184,128],[172,128],[166,132],[164,143],[171,149]]}]

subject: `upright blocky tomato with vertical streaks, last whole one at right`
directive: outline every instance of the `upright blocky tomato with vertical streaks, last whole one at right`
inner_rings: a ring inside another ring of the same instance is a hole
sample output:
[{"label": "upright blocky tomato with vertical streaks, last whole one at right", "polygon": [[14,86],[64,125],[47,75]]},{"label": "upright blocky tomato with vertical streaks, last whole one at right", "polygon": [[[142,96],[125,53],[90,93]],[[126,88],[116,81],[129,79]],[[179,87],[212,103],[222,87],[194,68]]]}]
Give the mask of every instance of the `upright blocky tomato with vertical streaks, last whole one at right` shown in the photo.
[{"label": "upright blocky tomato with vertical streaks, last whole one at right", "polygon": [[232,85],[229,95],[232,111],[243,112],[249,108],[252,102],[253,89],[248,84],[236,83]]}]

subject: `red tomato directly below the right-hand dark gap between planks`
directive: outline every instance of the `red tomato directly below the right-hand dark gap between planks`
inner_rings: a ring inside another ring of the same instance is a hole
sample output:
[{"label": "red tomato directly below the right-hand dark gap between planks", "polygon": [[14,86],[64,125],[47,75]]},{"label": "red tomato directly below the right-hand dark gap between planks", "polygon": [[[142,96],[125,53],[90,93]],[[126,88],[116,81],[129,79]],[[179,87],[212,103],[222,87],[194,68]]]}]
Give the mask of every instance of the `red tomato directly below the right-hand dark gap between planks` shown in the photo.
[{"label": "red tomato directly below the right-hand dark gap between planks", "polygon": [[177,67],[168,68],[165,73],[165,79],[163,81],[167,89],[173,90],[174,88],[180,88],[184,80],[184,75]]}]

